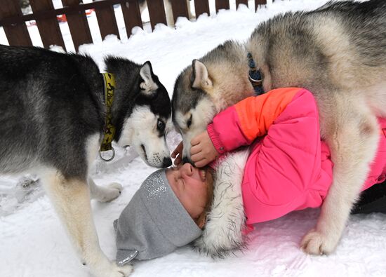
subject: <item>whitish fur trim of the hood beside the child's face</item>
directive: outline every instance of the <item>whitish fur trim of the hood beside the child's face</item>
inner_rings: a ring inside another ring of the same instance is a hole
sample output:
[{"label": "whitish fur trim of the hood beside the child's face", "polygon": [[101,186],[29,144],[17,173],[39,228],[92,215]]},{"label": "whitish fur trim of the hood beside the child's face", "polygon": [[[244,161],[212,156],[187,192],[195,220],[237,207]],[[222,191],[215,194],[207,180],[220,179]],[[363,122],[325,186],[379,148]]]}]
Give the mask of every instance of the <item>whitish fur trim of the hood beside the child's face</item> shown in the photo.
[{"label": "whitish fur trim of the hood beside the child's face", "polygon": [[245,213],[241,182],[249,148],[225,154],[215,166],[213,203],[202,236],[193,248],[211,257],[225,257],[245,247]]}]

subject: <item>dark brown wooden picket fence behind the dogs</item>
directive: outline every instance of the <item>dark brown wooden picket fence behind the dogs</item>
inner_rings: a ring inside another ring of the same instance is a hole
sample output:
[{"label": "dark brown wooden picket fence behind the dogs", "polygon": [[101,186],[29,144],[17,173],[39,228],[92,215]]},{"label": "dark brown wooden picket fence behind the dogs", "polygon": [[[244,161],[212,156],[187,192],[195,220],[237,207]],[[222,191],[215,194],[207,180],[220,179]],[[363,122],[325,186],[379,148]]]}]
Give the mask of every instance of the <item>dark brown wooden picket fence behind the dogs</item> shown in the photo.
[{"label": "dark brown wooden picket fence behind the dogs", "polygon": [[[175,20],[179,16],[189,18],[187,1],[170,1]],[[266,3],[266,0],[255,0],[255,7]],[[86,18],[86,11],[90,9],[95,10],[102,39],[108,34],[115,34],[119,37],[113,8],[116,4],[121,5],[128,37],[131,36],[133,27],[143,27],[138,0],[100,0],[89,4],[83,4],[81,0],[62,0],[63,8],[58,9],[53,7],[52,0],[29,0],[29,4],[33,13],[23,15],[18,0],[1,0],[0,26],[4,27],[8,43],[11,46],[32,46],[25,22],[35,20],[45,48],[58,45],[65,49],[57,18],[58,15],[65,15],[77,51],[81,44],[93,43]],[[236,4],[237,6],[239,4],[248,5],[248,0],[236,0]],[[147,0],[147,8],[152,29],[157,23],[166,25],[164,0]],[[194,8],[197,18],[202,13],[210,14],[208,0],[194,0]],[[215,0],[215,9],[216,12],[220,9],[229,9],[229,0]]]}]

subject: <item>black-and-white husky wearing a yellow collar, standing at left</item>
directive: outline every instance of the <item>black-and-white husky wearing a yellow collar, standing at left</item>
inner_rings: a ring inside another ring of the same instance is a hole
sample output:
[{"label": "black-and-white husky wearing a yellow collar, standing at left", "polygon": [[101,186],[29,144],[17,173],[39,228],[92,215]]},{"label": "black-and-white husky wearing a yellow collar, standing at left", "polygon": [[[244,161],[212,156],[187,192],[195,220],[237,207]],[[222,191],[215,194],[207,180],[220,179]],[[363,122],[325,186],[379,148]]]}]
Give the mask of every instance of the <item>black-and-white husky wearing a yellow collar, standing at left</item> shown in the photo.
[{"label": "black-and-white husky wearing a yellow collar, standing at left", "polygon": [[[150,62],[110,56],[105,65],[115,77],[114,140],[133,145],[149,165],[171,165],[170,98]],[[94,276],[128,276],[131,266],[109,262],[100,250],[91,215],[90,197],[111,201],[122,189],[88,178],[108,114],[98,66],[84,55],[0,46],[0,72],[0,173],[36,173],[81,262]]]}]

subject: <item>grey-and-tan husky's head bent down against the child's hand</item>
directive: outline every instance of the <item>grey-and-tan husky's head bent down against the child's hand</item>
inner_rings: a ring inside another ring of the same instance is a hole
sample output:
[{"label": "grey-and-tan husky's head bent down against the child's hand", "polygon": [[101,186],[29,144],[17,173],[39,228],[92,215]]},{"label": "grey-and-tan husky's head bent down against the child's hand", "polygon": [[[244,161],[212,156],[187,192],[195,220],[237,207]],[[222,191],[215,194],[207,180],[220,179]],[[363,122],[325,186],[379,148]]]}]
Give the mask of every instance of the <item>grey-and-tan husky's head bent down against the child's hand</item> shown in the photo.
[{"label": "grey-and-tan husky's head bent down against the child's hand", "polygon": [[185,161],[190,161],[190,141],[206,130],[215,114],[254,94],[248,70],[244,46],[225,41],[193,60],[178,76],[172,99],[173,123],[182,135]]}]

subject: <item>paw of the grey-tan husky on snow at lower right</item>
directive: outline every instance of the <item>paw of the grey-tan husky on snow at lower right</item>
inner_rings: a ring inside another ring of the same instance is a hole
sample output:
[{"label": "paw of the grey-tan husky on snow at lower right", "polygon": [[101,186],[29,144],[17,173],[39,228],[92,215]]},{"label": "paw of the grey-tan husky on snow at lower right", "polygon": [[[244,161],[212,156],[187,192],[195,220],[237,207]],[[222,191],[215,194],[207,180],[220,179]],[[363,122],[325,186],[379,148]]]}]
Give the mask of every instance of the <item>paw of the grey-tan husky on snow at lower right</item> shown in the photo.
[{"label": "paw of the grey-tan husky on snow at lower right", "polygon": [[327,236],[316,229],[310,230],[300,243],[300,248],[307,254],[328,255],[336,248],[338,241],[333,236]]}]

